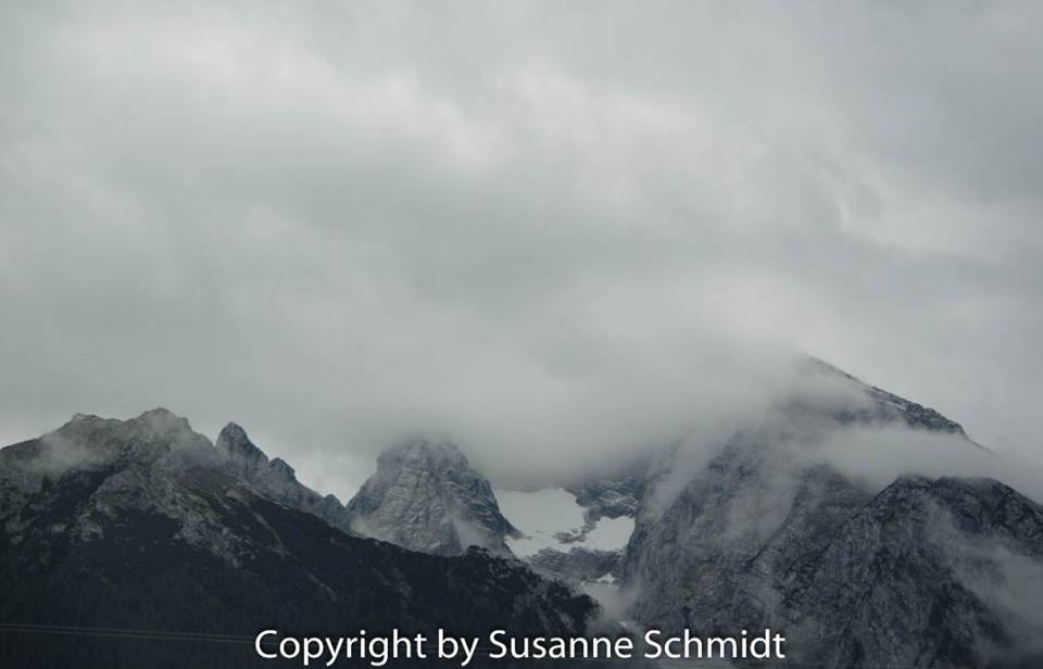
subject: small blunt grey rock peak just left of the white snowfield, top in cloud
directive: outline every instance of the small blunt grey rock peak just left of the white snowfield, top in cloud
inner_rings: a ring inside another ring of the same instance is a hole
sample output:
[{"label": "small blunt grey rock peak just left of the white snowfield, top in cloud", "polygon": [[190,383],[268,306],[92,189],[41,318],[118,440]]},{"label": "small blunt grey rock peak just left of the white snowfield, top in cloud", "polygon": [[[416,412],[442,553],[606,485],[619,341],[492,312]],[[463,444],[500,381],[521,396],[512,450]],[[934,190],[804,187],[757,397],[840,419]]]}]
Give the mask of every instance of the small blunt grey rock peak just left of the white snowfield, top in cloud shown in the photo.
[{"label": "small blunt grey rock peak just left of the white snowfield, top in cloud", "polygon": [[432,555],[460,555],[469,546],[508,554],[504,538],[517,532],[489,481],[455,445],[441,442],[385,451],[348,513],[355,532]]}]

